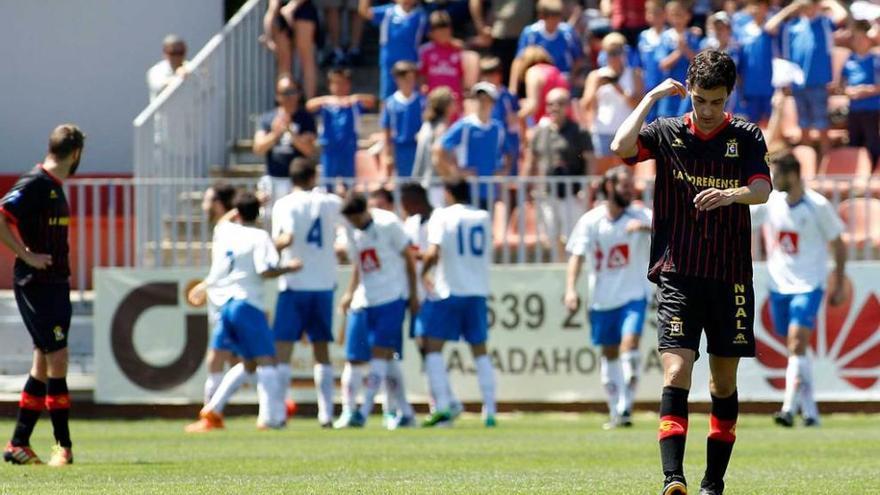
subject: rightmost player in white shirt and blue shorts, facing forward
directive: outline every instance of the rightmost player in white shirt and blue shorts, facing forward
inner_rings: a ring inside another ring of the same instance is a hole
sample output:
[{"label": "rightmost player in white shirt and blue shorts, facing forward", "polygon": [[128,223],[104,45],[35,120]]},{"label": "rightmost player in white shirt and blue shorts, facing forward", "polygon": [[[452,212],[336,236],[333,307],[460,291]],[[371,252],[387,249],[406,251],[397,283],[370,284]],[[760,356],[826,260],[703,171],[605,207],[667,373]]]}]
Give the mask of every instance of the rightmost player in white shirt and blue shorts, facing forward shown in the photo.
[{"label": "rightmost player in white shirt and blue shorts, facing forward", "polygon": [[807,347],[822,305],[828,275],[829,245],[834,252],[834,306],[844,299],[846,248],[840,234],[843,222],[821,194],[807,189],[800,163],[791,154],[771,162],[770,199],[752,206],[752,227],[764,226],[769,251],[770,313],[775,332],[786,338],[789,351],[782,410],[776,424],[791,427],[800,405],[805,426],[818,426],[819,409],[813,389],[813,370]]}]

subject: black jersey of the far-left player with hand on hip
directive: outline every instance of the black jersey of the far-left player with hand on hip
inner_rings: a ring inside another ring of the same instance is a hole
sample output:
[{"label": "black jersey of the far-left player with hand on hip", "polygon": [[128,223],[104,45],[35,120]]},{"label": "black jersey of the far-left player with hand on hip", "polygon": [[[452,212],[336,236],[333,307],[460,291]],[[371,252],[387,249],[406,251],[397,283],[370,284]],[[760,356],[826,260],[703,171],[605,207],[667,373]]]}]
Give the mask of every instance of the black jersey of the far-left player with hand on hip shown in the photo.
[{"label": "black jersey of the far-left player with hand on hip", "polygon": [[67,282],[70,278],[67,239],[70,208],[61,180],[37,165],[19,177],[0,199],[0,213],[18,226],[24,245],[34,253],[49,254],[52,264],[37,270],[21,259],[15,260],[15,281]]}]

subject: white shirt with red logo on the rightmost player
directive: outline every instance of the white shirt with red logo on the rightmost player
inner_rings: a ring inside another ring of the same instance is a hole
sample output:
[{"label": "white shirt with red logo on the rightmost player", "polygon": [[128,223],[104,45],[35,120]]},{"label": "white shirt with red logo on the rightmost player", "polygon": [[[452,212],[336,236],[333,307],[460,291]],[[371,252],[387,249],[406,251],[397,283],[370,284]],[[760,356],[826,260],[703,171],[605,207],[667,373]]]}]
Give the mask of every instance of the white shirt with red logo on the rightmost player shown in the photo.
[{"label": "white shirt with red logo on the rightmost player", "polygon": [[828,243],[844,226],[821,194],[806,189],[799,202],[788,204],[788,193],[773,191],[765,204],[751,207],[752,222],[763,225],[769,256],[770,289],[804,294],[825,286]]}]

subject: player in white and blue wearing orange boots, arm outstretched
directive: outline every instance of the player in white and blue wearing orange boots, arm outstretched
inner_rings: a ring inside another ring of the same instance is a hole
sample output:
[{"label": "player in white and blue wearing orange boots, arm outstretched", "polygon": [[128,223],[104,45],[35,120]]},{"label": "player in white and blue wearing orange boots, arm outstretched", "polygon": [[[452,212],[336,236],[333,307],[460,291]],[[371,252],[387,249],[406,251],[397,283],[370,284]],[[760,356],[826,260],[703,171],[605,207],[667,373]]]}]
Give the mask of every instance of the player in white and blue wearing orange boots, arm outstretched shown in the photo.
[{"label": "player in white and blue wearing orange boots, arm outstretched", "polygon": [[[257,427],[281,428],[286,421],[283,390],[275,369],[275,345],[272,330],[263,308],[263,280],[299,270],[302,265],[288,261],[279,265],[278,252],[269,234],[254,223],[260,214],[260,203],[251,193],[241,193],[235,210],[224,217],[214,231],[211,269],[208,276],[190,289],[187,299],[194,306],[204,304],[206,295],[220,308],[214,347],[234,347],[244,359],[245,367],[256,370],[260,412]],[[237,218],[236,222],[229,221]],[[220,389],[223,389],[221,384]],[[216,409],[220,390],[202,408],[202,423],[222,424]],[[199,423],[187,431],[199,429]]]}]

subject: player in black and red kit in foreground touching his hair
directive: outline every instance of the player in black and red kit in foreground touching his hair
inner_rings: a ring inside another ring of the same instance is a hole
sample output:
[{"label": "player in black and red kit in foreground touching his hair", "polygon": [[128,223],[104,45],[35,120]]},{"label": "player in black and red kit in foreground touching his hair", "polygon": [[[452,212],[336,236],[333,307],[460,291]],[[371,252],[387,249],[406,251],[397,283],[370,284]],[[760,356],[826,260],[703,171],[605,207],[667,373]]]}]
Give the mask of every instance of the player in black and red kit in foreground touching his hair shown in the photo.
[{"label": "player in black and red kit in foreground touching his hair", "polygon": [[[771,185],[761,131],[724,112],[735,83],[728,55],[700,52],[688,68],[687,89],[672,79],[652,89],[611,144],[628,163],[657,162],[648,278],[659,298],[663,495],[687,493],[688,391],[703,330],[712,413],[701,494],[724,491],[739,413],[737,366],[755,355],[748,205],[766,202]],[[688,93],[693,112],[642,128],[658,101]]]}]

